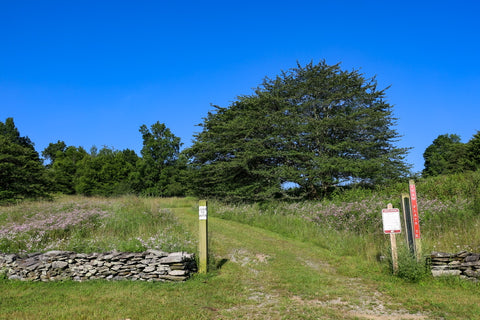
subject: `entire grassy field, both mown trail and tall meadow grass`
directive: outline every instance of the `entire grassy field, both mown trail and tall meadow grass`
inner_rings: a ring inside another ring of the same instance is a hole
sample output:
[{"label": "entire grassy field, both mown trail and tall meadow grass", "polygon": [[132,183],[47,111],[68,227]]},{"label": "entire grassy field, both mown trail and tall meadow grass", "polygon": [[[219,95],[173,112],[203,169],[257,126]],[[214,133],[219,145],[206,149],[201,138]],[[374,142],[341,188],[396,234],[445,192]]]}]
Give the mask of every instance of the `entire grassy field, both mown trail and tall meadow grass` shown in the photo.
[{"label": "entire grassy field, both mown trail and tall meadow grass", "polygon": [[[442,179],[417,184],[424,253],[480,252],[479,175]],[[207,275],[183,283],[0,279],[0,319],[480,319],[479,285],[433,279],[405,250],[392,275],[379,210],[398,206],[405,188],[349,190],[322,202],[210,201]],[[0,207],[1,252],[196,252],[197,234],[191,198]]]}]

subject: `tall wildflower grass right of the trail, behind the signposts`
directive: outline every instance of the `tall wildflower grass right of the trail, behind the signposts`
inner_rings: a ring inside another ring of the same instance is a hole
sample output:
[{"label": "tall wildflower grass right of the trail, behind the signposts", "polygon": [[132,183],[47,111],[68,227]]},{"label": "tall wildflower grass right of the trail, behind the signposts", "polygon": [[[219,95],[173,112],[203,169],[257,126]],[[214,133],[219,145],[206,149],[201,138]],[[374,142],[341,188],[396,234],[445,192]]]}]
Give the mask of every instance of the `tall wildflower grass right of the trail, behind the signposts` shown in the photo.
[{"label": "tall wildflower grass right of the trail, behind the signposts", "polygon": [[[423,179],[416,185],[423,253],[480,252],[480,172]],[[378,257],[389,255],[381,210],[388,203],[399,208],[402,193],[408,193],[408,183],[343,190],[322,201],[214,202],[211,212],[314,243],[338,256],[357,257],[372,266],[378,264]],[[405,250],[404,235],[405,231],[398,237],[399,250]]]}]

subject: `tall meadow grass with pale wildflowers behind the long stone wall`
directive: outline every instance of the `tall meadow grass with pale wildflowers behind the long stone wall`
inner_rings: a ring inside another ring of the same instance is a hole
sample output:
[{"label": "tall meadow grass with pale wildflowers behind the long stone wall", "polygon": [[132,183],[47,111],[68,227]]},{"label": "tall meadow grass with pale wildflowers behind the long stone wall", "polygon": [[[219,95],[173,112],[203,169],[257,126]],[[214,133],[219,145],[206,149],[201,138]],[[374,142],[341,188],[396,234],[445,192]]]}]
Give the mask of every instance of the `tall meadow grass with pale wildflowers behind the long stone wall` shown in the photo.
[{"label": "tall meadow grass with pale wildflowers behind the long stone wall", "polygon": [[[61,197],[0,207],[0,251],[190,251],[196,248],[168,209],[172,199]],[[186,205],[191,200],[176,202]]]}]

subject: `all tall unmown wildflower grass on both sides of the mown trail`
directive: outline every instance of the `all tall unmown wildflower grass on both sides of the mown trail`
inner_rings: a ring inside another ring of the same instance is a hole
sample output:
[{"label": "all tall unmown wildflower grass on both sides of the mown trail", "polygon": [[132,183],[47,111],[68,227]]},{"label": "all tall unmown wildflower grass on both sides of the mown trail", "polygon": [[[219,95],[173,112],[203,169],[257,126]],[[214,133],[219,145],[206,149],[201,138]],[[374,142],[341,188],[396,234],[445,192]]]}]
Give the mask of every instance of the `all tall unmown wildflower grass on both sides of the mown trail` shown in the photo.
[{"label": "all tall unmown wildflower grass on both sides of the mown trail", "polygon": [[[388,256],[381,209],[400,207],[408,183],[352,188],[322,201],[226,204],[209,202],[211,215],[264,228],[355,257],[369,267]],[[480,252],[480,171],[417,181],[422,247],[431,251]],[[0,207],[0,251],[47,250],[196,251],[169,208],[193,207],[192,198],[61,197]],[[405,232],[397,239],[405,246]]]}]

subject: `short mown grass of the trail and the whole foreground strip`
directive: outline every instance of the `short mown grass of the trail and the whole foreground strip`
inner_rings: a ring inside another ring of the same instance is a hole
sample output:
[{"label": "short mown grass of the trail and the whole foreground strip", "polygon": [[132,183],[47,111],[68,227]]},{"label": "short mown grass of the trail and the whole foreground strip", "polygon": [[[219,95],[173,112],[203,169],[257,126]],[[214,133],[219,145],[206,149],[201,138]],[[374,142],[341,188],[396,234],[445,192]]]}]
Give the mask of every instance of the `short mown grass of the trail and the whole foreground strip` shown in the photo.
[{"label": "short mown grass of the trail and the whole foreground strip", "polygon": [[[197,234],[189,201],[156,205]],[[362,274],[353,257],[219,218],[209,240],[215,270],[184,283],[0,280],[0,319],[480,319],[471,286]]]}]

